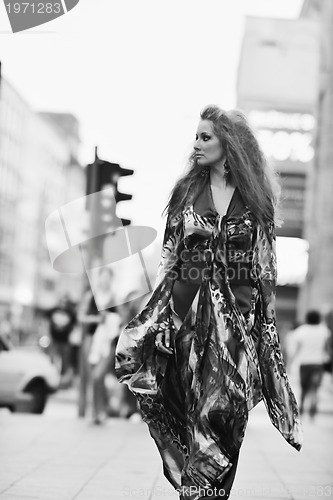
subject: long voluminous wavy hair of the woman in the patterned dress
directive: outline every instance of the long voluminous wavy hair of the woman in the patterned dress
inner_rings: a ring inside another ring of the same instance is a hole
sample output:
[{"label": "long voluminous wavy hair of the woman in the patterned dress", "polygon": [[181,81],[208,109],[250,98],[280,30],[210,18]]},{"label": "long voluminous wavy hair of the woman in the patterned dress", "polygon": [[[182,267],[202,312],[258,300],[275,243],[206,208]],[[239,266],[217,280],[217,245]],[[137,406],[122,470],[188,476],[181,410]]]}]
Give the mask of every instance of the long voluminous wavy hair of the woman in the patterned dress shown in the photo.
[{"label": "long voluminous wavy hair of the woman in the patterned dress", "polygon": [[[210,120],[230,167],[230,182],[239,189],[245,205],[262,227],[274,222],[280,225],[278,209],[280,184],[277,174],[268,165],[258,141],[243,113],[224,111],[216,105],[206,106],[200,113]],[[179,214],[186,203],[194,200],[209,180],[202,175],[195,151],[188,160],[187,172],[176,182],[162,214],[171,218]]]}]

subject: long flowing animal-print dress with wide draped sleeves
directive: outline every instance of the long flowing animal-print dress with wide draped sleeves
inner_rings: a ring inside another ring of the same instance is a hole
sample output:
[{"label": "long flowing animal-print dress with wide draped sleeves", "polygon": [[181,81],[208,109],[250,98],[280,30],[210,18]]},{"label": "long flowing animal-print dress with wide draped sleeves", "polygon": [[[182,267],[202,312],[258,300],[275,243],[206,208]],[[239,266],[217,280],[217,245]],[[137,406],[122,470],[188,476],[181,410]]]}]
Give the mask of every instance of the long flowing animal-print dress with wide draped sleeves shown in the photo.
[{"label": "long flowing animal-print dress with wide draped sleeves", "polygon": [[[290,387],[275,322],[275,228],[265,230],[244,206],[225,216],[198,215],[193,200],[168,217],[153,293],[122,331],[116,374],[128,382],[140,372],[156,394],[136,394],[163,460],[164,474],[184,498],[223,485],[237,463],[249,411],[264,399],[283,437],[301,449],[299,410]],[[189,228],[203,232],[205,272],[177,330],[172,290],[179,278]],[[249,270],[250,311],[244,315],[232,291],[235,256]],[[174,350],[161,354],[156,335],[169,330]],[[193,488],[195,487],[195,488]],[[183,498],[183,497],[181,497]],[[225,497],[227,498],[227,496]]]}]

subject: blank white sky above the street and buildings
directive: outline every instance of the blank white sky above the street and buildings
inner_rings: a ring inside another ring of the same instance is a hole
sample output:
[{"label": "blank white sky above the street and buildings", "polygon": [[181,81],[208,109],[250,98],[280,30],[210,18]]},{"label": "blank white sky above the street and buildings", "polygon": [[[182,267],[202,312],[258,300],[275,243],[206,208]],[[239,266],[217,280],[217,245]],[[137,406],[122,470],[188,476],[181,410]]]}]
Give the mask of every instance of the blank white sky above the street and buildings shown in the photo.
[{"label": "blank white sky above the street and buildings", "polygon": [[[161,231],[200,109],[236,107],[245,18],[296,18],[302,0],[80,0],[65,16],[12,34],[0,4],[3,76],[37,111],[73,113],[83,164],[134,170],[119,215]],[[32,172],[33,175],[33,172]]]}]

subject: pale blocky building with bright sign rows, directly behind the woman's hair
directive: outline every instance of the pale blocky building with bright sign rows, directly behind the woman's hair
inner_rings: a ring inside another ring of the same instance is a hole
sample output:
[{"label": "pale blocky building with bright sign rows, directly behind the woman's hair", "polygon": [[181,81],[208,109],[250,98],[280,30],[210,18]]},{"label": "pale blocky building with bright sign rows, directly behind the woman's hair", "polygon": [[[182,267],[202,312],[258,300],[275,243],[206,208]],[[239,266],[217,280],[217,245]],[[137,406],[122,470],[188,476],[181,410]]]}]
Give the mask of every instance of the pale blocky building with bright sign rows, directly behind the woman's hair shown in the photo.
[{"label": "pale blocky building with bright sign rows, directly behind the woman's hair", "polygon": [[277,320],[298,318],[307,271],[306,221],[316,137],[318,23],[312,19],[246,19],[237,106],[248,116],[269,162],[280,173],[284,224],[277,230]]}]

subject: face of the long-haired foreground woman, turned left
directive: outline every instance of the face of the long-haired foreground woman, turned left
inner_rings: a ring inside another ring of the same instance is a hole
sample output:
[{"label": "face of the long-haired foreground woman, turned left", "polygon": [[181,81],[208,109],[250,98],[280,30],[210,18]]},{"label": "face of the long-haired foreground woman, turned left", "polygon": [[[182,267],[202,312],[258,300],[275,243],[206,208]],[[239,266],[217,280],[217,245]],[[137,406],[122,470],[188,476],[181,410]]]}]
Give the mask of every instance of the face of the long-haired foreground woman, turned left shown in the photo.
[{"label": "face of the long-haired foreground woman, turned left", "polygon": [[222,144],[214,134],[210,120],[200,120],[193,147],[198,165],[214,166],[223,160]]}]

